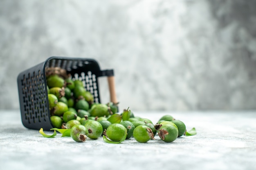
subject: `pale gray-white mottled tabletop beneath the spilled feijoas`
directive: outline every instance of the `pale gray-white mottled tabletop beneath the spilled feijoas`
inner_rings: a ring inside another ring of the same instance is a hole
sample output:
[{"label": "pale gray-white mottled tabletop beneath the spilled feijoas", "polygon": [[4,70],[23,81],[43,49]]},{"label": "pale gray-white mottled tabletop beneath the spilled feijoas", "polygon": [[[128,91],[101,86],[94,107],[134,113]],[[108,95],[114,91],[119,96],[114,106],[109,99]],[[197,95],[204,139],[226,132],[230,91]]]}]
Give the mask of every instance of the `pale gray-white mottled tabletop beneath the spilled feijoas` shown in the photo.
[{"label": "pale gray-white mottled tabletop beneath the spilled feijoas", "polygon": [[[135,112],[154,123],[167,112]],[[252,170],[256,166],[256,111],[173,112],[197,135],[172,143],[155,140],[107,144],[102,137],[77,143],[25,129],[19,111],[0,111],[0,169],[8,170]],[[46,132],[47,133],[47,132]]]}]

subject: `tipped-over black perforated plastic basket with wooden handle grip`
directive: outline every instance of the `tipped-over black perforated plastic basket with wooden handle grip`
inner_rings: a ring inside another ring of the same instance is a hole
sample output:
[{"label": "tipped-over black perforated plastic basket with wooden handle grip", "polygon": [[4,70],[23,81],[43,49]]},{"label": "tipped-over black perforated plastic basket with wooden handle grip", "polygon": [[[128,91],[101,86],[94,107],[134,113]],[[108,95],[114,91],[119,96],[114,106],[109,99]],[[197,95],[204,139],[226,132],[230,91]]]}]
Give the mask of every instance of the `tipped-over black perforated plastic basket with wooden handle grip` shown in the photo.
[{"label": "tipped-over black perforated plastic basket with wooden handle grip", "polygon": [[46,72],[58,68],[65,70],[73,81],[81,80],[95,103],[101,103],[98,77],[107,76],[110,101],[117,103],[114,70],[100,70],[94,59],[50,57],[45,62],[29,68],[18,75],[18,93],[22,124],[28,129],[53,128],[47,93]]}]

